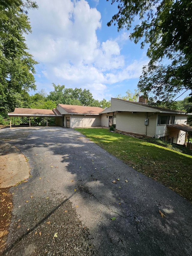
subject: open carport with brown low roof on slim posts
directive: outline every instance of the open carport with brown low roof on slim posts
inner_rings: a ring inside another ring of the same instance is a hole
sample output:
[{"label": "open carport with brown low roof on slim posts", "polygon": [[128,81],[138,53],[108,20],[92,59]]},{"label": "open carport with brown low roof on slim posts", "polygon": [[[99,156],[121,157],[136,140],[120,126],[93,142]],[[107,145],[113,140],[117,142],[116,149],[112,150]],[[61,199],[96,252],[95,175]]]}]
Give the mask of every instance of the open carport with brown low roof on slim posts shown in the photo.
[{"label": "open carport with brown low roof on slim posts", "polygon": [[[57,109],[32,109],[32,108],[15,108],[14,112],[8,113],[8,116],[10,116],[10,128],[11,125],[13,125],[13,121],[15,124],[15,116],[19,117],[29,117],[29,127],[31,127],[30,118],[31,117],[44,117],[46,118],[46,126],[47,124],[47,117],[58,117],[62,116],[61,113]],[[12,120],[12,124],[11,124]]]}]

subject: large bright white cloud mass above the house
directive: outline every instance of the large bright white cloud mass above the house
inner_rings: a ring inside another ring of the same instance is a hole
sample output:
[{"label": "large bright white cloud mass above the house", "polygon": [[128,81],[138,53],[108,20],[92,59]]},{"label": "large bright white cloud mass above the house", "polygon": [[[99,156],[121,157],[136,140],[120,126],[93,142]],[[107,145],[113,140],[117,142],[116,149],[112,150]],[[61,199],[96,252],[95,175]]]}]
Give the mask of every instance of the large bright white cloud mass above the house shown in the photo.
[{"label": "large bright white cloud mass above the house", "polygon": [[41,63],[37,77],[50,80],[49,86],[47,81],[38,82],[38,88],[62,81],[66,87],[90,89],[94,98],[103,99],[110,92],[107,85],[141,75],[146,62],[128,64],[121,53],[129,34],[100,42],[96,32],[101,29],[101,13],[88,2],[37,0],[37,4],[39,9],[29,12],[33,33],[26,39],[30,53]]}]

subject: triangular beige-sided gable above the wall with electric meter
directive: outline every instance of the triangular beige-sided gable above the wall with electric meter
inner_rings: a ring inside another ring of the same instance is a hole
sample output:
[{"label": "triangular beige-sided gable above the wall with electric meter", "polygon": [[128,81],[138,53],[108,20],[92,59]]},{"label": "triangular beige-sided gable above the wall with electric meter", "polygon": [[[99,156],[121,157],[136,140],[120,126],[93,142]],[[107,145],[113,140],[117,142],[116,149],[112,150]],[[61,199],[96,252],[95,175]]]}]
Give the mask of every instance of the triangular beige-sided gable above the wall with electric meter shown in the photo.
[{"label": "triangular beige-sided gable above the wall with electric meter", "polygon": [[111,98],[111,111],[155,112],[149,107]]}]

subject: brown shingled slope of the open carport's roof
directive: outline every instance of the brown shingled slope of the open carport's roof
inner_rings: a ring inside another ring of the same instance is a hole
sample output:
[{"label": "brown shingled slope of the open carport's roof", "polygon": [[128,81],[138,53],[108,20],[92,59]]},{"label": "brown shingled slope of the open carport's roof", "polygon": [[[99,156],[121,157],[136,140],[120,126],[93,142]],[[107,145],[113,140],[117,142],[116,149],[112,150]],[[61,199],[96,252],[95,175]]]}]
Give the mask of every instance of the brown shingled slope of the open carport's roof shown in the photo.
[{"label": "brown shingled slope of the open carport's roof", "polygon": [[32,115],[46,115],[46,116],[52,116],[55,115],[53,110],[51,109],[35,109],[35,108],[20,108],[16,107],[14,112],[8,113],[8,115],[11,114],[11,116],[15,115],[27,115],[27,116],[32,116]]}]

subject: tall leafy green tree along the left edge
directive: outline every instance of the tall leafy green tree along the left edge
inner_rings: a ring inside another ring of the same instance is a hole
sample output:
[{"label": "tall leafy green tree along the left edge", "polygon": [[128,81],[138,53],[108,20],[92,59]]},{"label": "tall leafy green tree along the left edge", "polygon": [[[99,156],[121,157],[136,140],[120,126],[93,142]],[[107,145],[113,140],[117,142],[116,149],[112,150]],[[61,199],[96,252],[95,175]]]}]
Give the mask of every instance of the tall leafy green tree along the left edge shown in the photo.
[{"label": "tall leafy green tree along the left edge", "polygon": [[22,95],[36,89],[34,65],[26,50],[24,34],[31,32],[25,8],[37,8],[27,0],[0,0],[0,112],[13,111],[22,106]]}]

